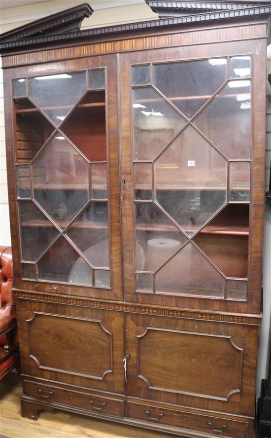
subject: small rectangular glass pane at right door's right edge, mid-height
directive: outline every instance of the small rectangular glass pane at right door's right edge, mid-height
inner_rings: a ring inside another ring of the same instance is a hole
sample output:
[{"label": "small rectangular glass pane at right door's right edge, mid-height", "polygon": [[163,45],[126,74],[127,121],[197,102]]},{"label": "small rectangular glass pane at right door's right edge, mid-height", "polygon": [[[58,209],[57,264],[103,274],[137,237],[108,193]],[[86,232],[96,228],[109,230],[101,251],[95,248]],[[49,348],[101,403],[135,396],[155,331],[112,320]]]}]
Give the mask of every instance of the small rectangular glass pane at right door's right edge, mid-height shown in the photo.
[{"label": "small rectangular glass pane at right door's right edge, mid-height", "polygon": [[230,201],[249,201],[250,163],[230,163]]}]

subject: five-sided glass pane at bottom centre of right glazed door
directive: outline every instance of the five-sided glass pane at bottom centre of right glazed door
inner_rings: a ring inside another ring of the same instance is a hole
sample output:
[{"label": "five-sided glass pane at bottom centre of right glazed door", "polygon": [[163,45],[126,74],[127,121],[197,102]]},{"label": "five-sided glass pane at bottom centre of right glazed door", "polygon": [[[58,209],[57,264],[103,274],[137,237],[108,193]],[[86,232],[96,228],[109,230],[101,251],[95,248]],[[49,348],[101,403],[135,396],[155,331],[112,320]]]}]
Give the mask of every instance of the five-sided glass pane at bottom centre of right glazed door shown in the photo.
[{"label": "five-sided glass pane at bottom centre of right glazed door", "polygon": [[192,243],[156,274],[156,292],[224,298],[225,280]]}]

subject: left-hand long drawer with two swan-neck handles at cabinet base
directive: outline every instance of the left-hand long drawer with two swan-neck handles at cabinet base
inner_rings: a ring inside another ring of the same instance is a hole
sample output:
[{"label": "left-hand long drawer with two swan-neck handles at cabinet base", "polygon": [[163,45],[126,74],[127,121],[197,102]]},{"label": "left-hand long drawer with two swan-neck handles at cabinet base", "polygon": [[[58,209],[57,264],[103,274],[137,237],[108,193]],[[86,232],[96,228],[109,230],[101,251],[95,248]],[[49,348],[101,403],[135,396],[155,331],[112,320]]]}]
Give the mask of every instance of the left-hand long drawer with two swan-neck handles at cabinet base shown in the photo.
[{"label": "left-hand long drawer with two swan-neck handles at cabinet base", "polygon": [[81,407],[96,413],[123,417],[123,401],[92,394],[43,385],[24,380],[25,394],[35,399],[52,401],[74,407]]}]

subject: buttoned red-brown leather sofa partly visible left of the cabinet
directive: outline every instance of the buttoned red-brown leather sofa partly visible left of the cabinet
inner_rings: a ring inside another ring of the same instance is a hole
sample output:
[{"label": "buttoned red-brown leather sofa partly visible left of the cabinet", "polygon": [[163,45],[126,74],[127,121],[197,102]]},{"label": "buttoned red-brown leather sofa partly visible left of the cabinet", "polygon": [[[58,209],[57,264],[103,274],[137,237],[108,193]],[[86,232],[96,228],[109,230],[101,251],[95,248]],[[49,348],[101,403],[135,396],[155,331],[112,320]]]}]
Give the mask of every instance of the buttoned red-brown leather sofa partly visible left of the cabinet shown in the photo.
[{"label": "buttoned red-brown leather sofa partly visible left of the cabinet", "polygon": [[0,246],[0,380],[19,365],[16,309],[11,291],[12,283],[11,248]]}]

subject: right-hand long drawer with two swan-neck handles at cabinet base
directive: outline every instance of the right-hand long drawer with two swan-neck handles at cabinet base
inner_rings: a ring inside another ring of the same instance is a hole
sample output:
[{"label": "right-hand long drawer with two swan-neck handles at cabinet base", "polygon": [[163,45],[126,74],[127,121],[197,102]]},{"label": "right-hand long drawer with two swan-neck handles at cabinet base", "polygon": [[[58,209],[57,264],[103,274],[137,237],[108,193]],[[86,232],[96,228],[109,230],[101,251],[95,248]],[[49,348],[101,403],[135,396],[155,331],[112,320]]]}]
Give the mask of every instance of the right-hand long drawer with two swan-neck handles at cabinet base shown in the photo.
[{"label": "right-hand long drawer with two swan-neck handles at cabinet base", "polygon": [[193,414],[127,402],[127,416],[169,426],[209,433],[212,436],[247,438],[248,422]]}]

